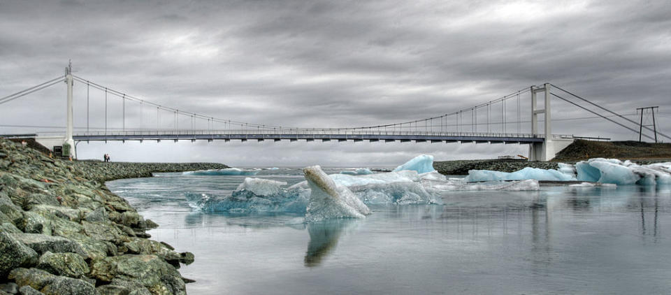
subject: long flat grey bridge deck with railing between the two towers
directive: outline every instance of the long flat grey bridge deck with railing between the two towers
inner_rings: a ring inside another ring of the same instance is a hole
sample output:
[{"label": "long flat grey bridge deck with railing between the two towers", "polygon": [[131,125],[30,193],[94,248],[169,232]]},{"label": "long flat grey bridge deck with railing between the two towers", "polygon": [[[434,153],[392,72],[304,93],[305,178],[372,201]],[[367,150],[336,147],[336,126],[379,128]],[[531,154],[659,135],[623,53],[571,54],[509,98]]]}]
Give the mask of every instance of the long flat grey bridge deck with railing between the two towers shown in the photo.
[{"label": "long flat grey bridge deck with railing between the two towers", "polygon": [[73,136],[75,141],[184,141],[184,140],[224,140],[224,141],[401,141],[401,142],[475,142],[475,143],[542,143],[541,136],[522,136],[519,134],[83,134]]}]

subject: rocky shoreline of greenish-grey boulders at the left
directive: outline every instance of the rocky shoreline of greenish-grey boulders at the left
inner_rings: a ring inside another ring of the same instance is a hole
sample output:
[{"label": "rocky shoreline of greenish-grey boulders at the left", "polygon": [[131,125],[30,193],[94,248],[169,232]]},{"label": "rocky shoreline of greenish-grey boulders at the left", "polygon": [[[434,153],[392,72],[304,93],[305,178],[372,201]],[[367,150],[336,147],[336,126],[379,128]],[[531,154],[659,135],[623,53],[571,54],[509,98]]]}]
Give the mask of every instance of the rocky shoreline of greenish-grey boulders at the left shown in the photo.
[{"label": "rocky shoreline of greenish-grey boulders at the left", "polygon": [[150,240],[144,220],[104,182],[222,164],[52,159],[0,138],[0,295],[186,294],[194,255]]}]

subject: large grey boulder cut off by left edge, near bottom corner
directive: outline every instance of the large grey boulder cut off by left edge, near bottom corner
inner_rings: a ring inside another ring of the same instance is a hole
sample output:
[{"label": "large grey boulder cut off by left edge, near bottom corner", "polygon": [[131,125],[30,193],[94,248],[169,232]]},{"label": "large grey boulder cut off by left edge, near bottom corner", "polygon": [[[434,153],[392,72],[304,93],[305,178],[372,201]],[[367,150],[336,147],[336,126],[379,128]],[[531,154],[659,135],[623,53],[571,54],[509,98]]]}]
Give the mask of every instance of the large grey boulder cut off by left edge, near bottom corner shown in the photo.
[{"label": "large grey boulder cut off by left edge, near bottom corner", "polygon": [[27,247],[11,234],[0,231],[0,280],[13,268],[37,264],[37,252]]}]

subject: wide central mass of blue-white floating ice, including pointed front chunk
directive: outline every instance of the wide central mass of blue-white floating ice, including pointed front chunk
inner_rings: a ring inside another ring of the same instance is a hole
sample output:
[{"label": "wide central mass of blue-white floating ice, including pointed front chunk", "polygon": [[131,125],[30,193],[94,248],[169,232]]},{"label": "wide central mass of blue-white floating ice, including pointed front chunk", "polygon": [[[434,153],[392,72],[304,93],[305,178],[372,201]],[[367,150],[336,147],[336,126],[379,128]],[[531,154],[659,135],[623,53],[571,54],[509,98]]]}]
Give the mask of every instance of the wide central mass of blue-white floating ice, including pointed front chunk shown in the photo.
[{"label": "wide central mass of blue-white floating ice, including pointed front chunk", "polygon": [[229,196],[189,194],[192,207],[210,212],[297,213],[313,222],[331,218],[363,217],[366,204],[440,203],[441,195],[463,190],[537,190],[538,182],[491,181],[468,183],[436,171],[401,170],[366,175],[326,175],[319,166],[304,169],[305,181],[284,188],[286,182],[245,178]]}]

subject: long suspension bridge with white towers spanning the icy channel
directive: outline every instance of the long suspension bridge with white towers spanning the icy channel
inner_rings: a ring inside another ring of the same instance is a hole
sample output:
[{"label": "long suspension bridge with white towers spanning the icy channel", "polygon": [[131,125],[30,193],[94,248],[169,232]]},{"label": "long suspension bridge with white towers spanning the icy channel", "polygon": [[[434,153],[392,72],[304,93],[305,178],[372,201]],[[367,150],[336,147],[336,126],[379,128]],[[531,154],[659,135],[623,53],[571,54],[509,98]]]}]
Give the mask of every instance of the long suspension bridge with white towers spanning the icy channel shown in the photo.
[{"label": "long suspension bridge with white towers spanning the icy channel", "polygon": [[[0,98],[0,105],[62,82],[67,85],[65,132],[14,134],[13,136],[34,137],[38,143],[46,147],[63,145],[73,147],[68,150],[70,156],[75,154],[76,143],[89,141],[400,141],[528,144],[531,161],[547,161],[575,140],[572,135],[552,134],[552,99],[566,101],[630,131],[639,132],[635,129],[638,128],[637,125],[630,124],[638,124],[637,122],[550,83],[524,87],[498,99],[434,117],[393,124],[340,128],[282,127],[189,113],[154,101],[140,99],[74,75],[71,66],[66,68],[64,75],[3,96]],[[76,133],[73,126],[75,82],[86,89],[86,110],[83,114],[86,127],[79,127]],[[89,94],[92,91],[100,92],[101,95],[98,96],[104,97],[104,110],[91,110]],[[525,102],[526,106],[523,107],[520,102],[521,97],[523,100],[524,98],[530,99],[531,103]],[[122,103],[121,114],[116,114],[114,117],[108,109],[112,99],[118,99]],[[539,107],[540,105],[542,106]],[[100,113],[103,115],[101,116]],[[94,115],[96,118],[104,117],[104,125],[91,127],[91,114],[96,114]],[[131,122],[131,115],[136,121],[139,117],[139,122]],[[542,120],[539,115],[542,115]],[[525,117],[524,120],[522,117]],[[625,123],[618,122],[613,117],[623,119]],[[186,125],[183,122],[185,119],[189,121]],[[115,122],[112,122],[113,120]],[[121,122],[116,122],[119,120]],[[181,125],[180,122],[182,122]],[[527,123],[531,124],[527,125]],[[539,123],[542,124],[542,129],[539,129]],[[113,125],[115,127],[112,127]],[[645,128],[649,129],[649,127]],[[671,139],[665,134],[659,132],[656,134]],[[643,136],[651,138],[646,134]]]}]

